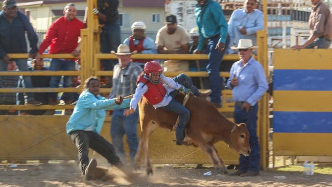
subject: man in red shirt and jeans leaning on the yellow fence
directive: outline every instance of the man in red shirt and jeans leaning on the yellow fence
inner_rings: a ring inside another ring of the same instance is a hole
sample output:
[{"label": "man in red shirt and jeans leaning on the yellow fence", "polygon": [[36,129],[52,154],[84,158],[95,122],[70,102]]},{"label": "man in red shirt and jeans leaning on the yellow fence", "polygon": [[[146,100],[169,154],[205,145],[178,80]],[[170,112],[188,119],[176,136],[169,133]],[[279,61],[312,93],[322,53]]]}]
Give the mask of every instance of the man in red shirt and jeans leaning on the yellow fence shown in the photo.
[{"label": "man in red shirt and jeans leaning on the yellow fence", "polygon": [[[82,21],[76,18],[76,8],[74,4],[67,4],[63,9],[63,15],[59,19],[55,20],[48,32],[45,39],[40,44],[39,52],[36,58],[40,58],[48,46],[50,46],[50,53],[71,53],[74,57],[80,55],[79,49],[79,37],[80,30],[84,29]],[[74,71],[75,59],[52,59],[51,71]],[[50,87],[59,87],[61,76],[52,76],[50,81]],[[73,77],[65,76],[63,79],[63,87],[73,87]],[[66,104],[71,104],[73,101],[73,94],[67,94],[65,98]],[[58,104],[57,93],[51,93],[49,95],[50,104]],[[54,114],[54,110],[48,111],[48,114]],[[70,110],[66,110],[65,114],[71,114]]]}]

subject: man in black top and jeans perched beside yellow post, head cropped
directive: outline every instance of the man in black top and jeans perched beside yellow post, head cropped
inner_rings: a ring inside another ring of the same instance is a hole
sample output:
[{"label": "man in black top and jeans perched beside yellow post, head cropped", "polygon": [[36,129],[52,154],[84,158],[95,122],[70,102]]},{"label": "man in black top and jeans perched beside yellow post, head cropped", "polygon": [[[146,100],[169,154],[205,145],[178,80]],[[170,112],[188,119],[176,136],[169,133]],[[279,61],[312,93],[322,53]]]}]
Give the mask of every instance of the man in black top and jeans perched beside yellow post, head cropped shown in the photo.
[{"label": "man in black top and jeans perched beside yellow post, head cropped", "polygon": [[[92,11],[99,18],[99,24],[103,25],[100,33],[100,46],[102,53],[115,51],[121,43],[121,31],[118,15],[118,0],[97,0],[97,8]],[[101,60],[105,71],[112,71],[117,60]]]}]

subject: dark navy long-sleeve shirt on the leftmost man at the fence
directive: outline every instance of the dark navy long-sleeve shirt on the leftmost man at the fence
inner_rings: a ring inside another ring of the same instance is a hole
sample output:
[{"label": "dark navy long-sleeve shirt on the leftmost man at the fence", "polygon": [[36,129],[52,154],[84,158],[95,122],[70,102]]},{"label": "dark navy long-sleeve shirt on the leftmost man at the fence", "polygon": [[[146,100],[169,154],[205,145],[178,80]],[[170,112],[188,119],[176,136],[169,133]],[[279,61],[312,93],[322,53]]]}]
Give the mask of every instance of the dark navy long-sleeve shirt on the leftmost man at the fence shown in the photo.
[{"label": "dark navy long-sleeve shirt on the leftmost man at the fence", "polygon": [[17,16],[9,22],[4,11],[0,12],[0,58],[7,53],[28,53],[26,32],[30,41],[31,51],[37,53],[37,35],[26,15],[17,11]]}]

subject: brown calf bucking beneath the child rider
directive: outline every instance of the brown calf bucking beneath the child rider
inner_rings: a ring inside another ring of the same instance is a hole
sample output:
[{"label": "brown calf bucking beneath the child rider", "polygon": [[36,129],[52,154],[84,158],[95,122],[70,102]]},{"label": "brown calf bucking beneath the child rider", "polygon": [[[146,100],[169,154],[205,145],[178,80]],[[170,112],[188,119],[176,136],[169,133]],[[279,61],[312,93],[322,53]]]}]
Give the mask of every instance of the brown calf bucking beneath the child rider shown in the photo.
[{"label": "brown calf bucking beneath the child rider", "polygon": [[[183,101],[184,94],[177,96],[178,101]],[[162,108],[153,108],[145,97],[139,103],[139,120],[141,139],[135,157],[135,169],[140,167],[141,156],[145,152],[147,174],[152,174],[152,166],[148,153],[149,136],[157,125],[172,130],[177,115]],[[223,160],[217,153],[214,144],[224,141],[228,146],[244,155],[249,155],[249,132],[245,124],[236,125],[219,113],[217,108],[205,99],[190,97],[187,104],[190,111],[190,120],[186,127],[187,142],[195,147],[200,147],[210,158],[215,169],[228,173]]]}]

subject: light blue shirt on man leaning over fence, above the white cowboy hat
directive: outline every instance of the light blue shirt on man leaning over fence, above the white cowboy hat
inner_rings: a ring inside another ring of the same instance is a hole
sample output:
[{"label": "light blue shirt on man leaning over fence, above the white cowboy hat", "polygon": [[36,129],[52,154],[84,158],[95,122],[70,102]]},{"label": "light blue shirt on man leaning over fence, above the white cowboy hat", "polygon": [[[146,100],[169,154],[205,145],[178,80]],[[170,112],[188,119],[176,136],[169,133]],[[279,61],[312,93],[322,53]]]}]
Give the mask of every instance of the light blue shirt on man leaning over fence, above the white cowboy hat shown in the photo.
[{"label": "light blue shirt on man leaning over fence, above the white cowboy hat", "polygon": [[[240,32],[241,27],[246,28],[247,34]],[[255,9],[247,13],[245,9],[234,10],[228,21],[229,46],[238,46],[240,39],[251,39],[252,44],[256,45],[256,33],[264,29],[263,12]],[[234,50],[228,50],[234,53]],[[237,51],[237,50],[236,50]]]}]

